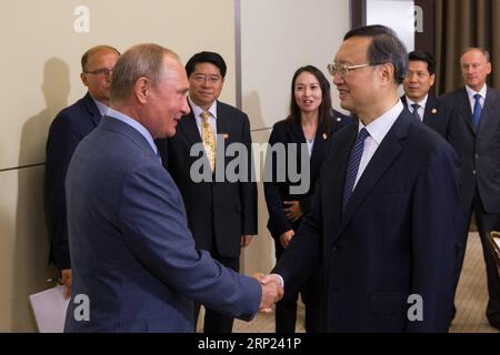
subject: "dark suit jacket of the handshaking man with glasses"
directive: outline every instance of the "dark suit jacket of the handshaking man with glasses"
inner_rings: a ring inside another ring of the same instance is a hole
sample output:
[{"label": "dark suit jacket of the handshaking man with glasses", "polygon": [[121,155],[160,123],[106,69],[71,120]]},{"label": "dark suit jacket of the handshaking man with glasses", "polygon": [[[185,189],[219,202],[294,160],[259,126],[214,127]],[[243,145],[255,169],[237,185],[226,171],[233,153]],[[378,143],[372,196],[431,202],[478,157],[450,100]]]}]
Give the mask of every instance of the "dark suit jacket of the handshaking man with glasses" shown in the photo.
[{"label": "dark suit jacket of the handshaking man with glasses", "polygon": [[[272,272],[287,294],[322,266],[323,331],[446,332],[461,235],[457,154],[403,110],[343,210],[357,134],[356,124],[336,133],[312,211]],[[422,297],[423,321],[409,320],[410,295]]]}]

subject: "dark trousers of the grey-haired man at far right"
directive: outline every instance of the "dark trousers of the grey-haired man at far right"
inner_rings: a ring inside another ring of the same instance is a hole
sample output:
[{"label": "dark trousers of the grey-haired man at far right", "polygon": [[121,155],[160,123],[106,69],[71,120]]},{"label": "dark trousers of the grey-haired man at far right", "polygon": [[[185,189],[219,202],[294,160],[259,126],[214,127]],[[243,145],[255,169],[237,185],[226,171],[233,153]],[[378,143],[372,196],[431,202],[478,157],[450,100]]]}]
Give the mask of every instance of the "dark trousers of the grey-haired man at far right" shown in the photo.
[{"label": "dark trousers of the grey-haired man at far right", "polygon": [[487,306],[487,317],[491,323],[500,324],[500,275],[497,270],[494,262],[493,250],[491,248],[488,241],[488,233],[490,231],[500,230],[500,215],[487,213],[482,206],[481,197],[479,191],[476,187],[474,197],[472,201],[472,206],[466,212],[466,232],[463,233],[463,240],[461,245],[461,251],[459,255],[459,268],[458,278],[460,277],[460,272],[463,264],[463,258],[467,247],[467,236],[469,233],[469,224],[472,216],[472,212],[476,214],[476,221],[478,223],[479,236],[482,244],[482,254],[484,257],[486,270],[487,270],[487,282],[488,282],[488,294],[489,302]]}]

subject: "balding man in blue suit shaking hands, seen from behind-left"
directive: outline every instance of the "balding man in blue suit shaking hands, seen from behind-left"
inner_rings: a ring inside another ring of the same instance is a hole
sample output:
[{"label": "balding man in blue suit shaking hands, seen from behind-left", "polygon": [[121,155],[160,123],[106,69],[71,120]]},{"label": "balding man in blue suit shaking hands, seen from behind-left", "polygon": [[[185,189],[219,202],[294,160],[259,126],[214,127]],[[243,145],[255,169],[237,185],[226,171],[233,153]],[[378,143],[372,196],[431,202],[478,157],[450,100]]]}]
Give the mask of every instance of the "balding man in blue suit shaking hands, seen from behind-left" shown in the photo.
[{"label": "balding man in blue suit shaking hands, seen from behind-left", "polygon": [[189,113],[186,71],[157,44],[114,65],[111,108],[67,176],[72,300],[67,332],[192,332],[192,301],[250,320],[281,296],[197,251],[184,204],[153,139]]}]

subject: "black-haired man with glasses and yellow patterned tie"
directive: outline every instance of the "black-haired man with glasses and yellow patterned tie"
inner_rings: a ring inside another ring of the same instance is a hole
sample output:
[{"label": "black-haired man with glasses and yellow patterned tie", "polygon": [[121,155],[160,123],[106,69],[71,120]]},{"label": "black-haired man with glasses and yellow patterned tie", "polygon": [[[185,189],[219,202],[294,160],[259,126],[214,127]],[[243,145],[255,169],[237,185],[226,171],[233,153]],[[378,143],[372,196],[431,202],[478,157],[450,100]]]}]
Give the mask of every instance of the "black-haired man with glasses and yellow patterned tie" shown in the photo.
[{"label": "black-haired man with glasses and yellow patterned tie", "polygon": [[[218,100],[226,77],[226,62],[214,52],[194,54],[186,64],[191,112],[179,122],[177,134],[158,141],[162,161],[182,194],[197,248],[207,250],[224,266],[239,271],[241,247],[257,234],[257,185],[251,180],[250,155],[244,176],[228,181],[226,168],[238,163],[238,155],[226,156],[226,148],[242,143],[251,152],[250,121],[237,108]],[[191,153],[202,144],[202,179],[197,166],[200,156]],[[241,174],[242,171],[240,171]],[[222,176],[222,178],[218,178]],[[200,305],[194,310],[197,324]],[[206,333],[231,333],[233,318],[206,310]]]}]

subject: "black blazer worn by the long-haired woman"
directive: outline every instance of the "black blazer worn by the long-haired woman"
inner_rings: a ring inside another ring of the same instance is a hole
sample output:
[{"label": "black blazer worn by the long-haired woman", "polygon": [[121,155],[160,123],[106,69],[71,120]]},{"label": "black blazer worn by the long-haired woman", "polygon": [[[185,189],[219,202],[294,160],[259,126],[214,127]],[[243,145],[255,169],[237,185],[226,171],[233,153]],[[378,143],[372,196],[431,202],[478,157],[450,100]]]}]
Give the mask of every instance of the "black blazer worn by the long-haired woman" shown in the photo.
[{"label": "black blazer worn by the long-haired woman", "polygon": [[[303,214],[309,213],[311,205],[311,196],[314,193],[314,185],[318,182],[320,175],[321,165],[327,155],[327,146],[330,142],[331,136],[342,126],[348,123],[351,123],[352,120],[350,116],[347,116],[338,111],[332,112],[332,116],[330,119],[330,126],[318,126],[318,131],[316,132],[314,144],[312,148],[312,154],[310,158],[310,174],[306,178],[309,179],[309,189],[303,194],[292,194],[290,193],[291,186],[298,186],[303,182],[291,182],[288,173],[284,174],[284,181],[278,181],[277,174],[277,159],[276,155],[271,155],[269,152],[267,154],[267,163],[266,171],[270,170],[272,173],[269,176],[272,176],[271,181],[264,181],[264,196],[266,203],[268,205],[269,220],[268,220],[268,230],[271,233],[273,239],[279,239],[279,236],[290,230],[296,230],[300,224],[302,219],[299,219],[294,223],[291,223],[287,220],[287,216],[283,212],[283,201],[300,201],[300,209]],[[290,120],[282,120],[274,124],[272,128],[271,135],[269,138],[270,148],[272,148],[276,143],[293,144],[297,143],[297,154],[296,154],[296,166],[298,172],[301,171],[301,154],[300,154],[300,144],[306,144],[306,136],[303,135],[302,125],[300,122],[300,118],[293,118]],[[286,172],[288,172],[288,162],[289,162],[289,150],[286,149],[286,160],[283,168]],[[272,160],[271,160],[272,158]],[[272,165],[271,165],[272,164]]]}]

